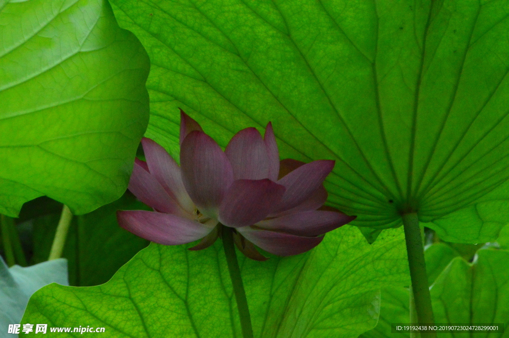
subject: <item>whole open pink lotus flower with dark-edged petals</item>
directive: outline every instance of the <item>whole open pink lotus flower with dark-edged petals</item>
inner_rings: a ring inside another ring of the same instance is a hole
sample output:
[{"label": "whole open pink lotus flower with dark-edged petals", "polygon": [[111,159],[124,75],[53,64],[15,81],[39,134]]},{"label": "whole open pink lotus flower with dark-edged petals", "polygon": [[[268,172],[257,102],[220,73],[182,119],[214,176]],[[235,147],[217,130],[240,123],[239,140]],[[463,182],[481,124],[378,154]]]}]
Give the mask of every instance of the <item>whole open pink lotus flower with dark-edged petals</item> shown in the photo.
[{"label": "whole open pink lotus flower with dark-edged petals", "polygon": [[129,190],[154,211],[118,211],[121,227],[165,244],[202,239],[205,249],[222,226],[234,229],[247,257],[266,259],[254,247],[279,256],[318,245],[323,234],[355,219],[332,208],[323,180],[334,161],[279,162],[272,125],[238,132],[224,151],[181,110],[180,164],[151,139],[142,140],[147,162],[135,160]]}]

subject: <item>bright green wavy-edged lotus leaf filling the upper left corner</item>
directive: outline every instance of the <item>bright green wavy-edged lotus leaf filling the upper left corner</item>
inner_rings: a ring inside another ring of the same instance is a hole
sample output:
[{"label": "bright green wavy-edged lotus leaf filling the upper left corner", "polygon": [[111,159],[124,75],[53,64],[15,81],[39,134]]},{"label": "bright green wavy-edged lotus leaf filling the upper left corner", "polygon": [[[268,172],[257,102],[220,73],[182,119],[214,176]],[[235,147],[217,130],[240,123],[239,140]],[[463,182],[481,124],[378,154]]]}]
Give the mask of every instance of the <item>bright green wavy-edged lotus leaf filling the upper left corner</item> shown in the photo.
[{"label": "bright green wavy-edged lotus leaf filling the upper left corner", "polygon": [[143,46],[105,0],[2,1],[0,22],[0,213],[118,199],[148,123]]}]

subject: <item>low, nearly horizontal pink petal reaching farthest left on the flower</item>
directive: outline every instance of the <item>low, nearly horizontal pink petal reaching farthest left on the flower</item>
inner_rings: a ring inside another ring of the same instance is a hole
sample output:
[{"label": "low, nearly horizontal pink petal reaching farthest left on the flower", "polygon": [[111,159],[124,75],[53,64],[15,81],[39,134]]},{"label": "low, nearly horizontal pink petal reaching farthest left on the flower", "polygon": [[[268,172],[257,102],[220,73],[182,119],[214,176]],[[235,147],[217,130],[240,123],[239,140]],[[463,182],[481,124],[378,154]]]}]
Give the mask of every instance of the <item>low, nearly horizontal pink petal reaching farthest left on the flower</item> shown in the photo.
[{"label": "low, nearly horizontal pink petal reaching farthest left on the flower", "polygon": [[199,222],[155,211],[117,211],[117,220],[136,236],[164,245],[189,243],[213,230]]}]

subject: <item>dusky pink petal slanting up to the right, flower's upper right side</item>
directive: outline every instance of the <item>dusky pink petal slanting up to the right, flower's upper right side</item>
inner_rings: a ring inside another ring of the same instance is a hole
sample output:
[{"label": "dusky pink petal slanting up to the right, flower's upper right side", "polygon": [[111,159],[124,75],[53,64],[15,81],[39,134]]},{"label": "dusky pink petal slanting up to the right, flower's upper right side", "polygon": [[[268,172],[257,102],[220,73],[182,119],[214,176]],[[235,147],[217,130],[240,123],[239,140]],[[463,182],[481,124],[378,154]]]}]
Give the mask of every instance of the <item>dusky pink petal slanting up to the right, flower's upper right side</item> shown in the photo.
[{"label": "dusky pink petal slanting up to the right, flower's upper right side", "polygon": [[334,168],[334,161],[319,160],[304,164],[277,182],[285,186],[286,193],[276,211],[291,209],[307,200],[322,185]]}]

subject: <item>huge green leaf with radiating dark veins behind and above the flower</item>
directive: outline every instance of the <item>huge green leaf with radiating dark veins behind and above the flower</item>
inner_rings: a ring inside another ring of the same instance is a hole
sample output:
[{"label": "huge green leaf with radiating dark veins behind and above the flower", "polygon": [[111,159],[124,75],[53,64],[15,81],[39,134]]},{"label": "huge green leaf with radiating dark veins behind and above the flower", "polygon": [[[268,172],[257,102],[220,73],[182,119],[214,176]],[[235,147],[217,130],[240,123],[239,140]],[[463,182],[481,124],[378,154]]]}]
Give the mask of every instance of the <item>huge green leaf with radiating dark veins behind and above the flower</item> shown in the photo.
[{"label": "huge green leaf with radiating dark veins behind and above the flower", "polygon": [[271,120],[281,157],[336,160],[329,203],[376,228],[467,227],[443,217],[509,178],[507,0],[112,3],[151,58],[146,135],[174,156],[177,107],[223,146]]}]

